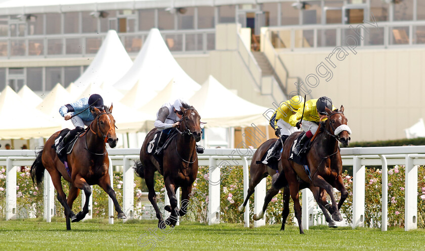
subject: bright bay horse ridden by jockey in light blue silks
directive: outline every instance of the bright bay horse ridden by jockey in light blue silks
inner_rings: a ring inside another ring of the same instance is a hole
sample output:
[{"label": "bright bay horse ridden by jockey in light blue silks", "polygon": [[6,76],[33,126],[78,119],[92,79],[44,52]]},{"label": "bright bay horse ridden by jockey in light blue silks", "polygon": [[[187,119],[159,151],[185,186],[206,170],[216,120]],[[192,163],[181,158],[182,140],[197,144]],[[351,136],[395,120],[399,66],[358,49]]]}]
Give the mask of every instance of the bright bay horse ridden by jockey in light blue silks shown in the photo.
[{"label": "bright bay horse ridden by jockey in light blue silks", "polygon": [[[109,179],[106,142],[113,148],[118,141],[115,134],[115,120],[111,114],[112,109],[112,105],[110,108],[104,106],[103,109],[90,108],[95,120],[86,131],[79,135],[71,154],[67,156],[69,171],[59,160],[53,147],[55,139],[61,131],[50,136],[43,149],[36,154],[36,159],[31,166],[30,172],[33,183],[40,184],[43,181],[45,169],[49,172],[53,185],[58,192],[58,200],[65,209],[66,230],[71,230],[71,221],[78,222],[89,213],[91,185],[99,185],[112,198],[118,219],[126,218],[118,204]],[[62,188],[61,177],[69,182],[68,199]],[[72,212],[72,204],[80,189],[86,195],[86,202],[82,211],[75,215]]]}]

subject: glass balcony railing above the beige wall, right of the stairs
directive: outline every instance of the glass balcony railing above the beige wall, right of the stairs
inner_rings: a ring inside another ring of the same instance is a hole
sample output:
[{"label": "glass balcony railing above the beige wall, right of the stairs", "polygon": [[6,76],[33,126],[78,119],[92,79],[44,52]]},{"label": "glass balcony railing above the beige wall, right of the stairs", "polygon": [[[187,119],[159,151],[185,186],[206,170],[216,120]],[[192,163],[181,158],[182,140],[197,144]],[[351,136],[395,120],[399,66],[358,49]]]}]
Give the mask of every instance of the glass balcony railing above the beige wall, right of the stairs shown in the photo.
[{"label": "glass balcony railing above the beige wall, right of the stairs", "polygon": [[425,21],[297,25],[269,27],[268,32],[276,49],[291,51],[347,45],[357,48],[425,45]]}]

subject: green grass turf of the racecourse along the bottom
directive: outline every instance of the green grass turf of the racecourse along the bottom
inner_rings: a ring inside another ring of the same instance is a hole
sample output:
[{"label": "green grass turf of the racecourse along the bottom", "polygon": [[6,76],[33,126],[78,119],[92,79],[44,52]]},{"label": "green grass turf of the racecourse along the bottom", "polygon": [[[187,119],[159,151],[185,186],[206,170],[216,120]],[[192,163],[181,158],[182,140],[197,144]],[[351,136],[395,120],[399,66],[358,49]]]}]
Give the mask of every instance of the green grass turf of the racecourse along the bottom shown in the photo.
[{"label": "green grass turf of the racecourse along the bottom", "polygon": [[[0,221],[0,250],[425,250],[425,230],[311,227],[300,235],[297,227],[272,225],[244,228],[237,224],[207,226],[183,221],[164,234],[156,221],[115,224],[94,219],[71,223],[63,219]],[[155,231],[156,229],[156,231]],[[155,237],[155,234],[157,237]],[[141,245],[139,246],[138,240]]]}]

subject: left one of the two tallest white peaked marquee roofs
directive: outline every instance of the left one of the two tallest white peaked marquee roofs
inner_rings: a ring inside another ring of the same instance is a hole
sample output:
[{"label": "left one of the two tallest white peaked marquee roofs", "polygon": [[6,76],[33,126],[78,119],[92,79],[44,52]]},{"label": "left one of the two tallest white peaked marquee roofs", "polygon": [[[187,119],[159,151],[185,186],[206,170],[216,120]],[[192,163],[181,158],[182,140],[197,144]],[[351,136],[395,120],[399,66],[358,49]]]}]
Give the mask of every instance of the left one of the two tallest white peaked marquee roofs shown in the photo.
[{"label": "left one of the two tallest white peaked marquee roofs", "polygon": [[109,30],[98,53],[84,73],[74,81],[77,87],[86,88],[94,84],[114,84],[133,65],[130,56],[114,30]]}]

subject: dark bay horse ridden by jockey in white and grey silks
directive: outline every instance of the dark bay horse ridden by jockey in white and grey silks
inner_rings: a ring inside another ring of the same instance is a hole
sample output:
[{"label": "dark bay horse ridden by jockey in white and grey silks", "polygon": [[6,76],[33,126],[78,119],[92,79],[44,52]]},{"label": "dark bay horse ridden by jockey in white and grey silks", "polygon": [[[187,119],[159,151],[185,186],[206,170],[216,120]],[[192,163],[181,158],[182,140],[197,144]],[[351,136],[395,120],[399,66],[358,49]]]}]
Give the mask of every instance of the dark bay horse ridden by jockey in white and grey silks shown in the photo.
[{"label": "dark bay horse ridden by jockey in white and grey silks", "polygon": [[[168,147],[163,150],[163,164],[160,167],[158,161],[152,154],[148,154],[146,149],[149,142],[153,140],[156,128],[152,129],[145,138],[140,149],[140,161],[136,162],[134,167],[136,174],[145,179],[146,186],[149,189],[148,198],[155,209],[156,218],[158,218],[158,227],[164,229],[166,225],[176,226],[178,216],[184,216],[187,213],[189,196],[192,192],[192,184],[198,174],[198,156],[196,153],[196,142],[201,140],[202,131],[200,128],[200,119],[198,112],[192,107],[183,104],[181,112],[183,113],[179,127],[177,127],[177,136],[169,142]],[[154,173],[158,171],[164,177],[165,189],[169,197],[171,206],[166,206],[165,210],[171,212],[169,218],[164,221],[162,213],[156,204],[156,193],[154,189]],[[177,205],[177,189],[182,188],[182,208],[179,210]],[[186,203],[183,203],[186,202]]]}]

